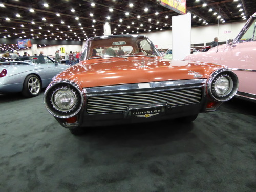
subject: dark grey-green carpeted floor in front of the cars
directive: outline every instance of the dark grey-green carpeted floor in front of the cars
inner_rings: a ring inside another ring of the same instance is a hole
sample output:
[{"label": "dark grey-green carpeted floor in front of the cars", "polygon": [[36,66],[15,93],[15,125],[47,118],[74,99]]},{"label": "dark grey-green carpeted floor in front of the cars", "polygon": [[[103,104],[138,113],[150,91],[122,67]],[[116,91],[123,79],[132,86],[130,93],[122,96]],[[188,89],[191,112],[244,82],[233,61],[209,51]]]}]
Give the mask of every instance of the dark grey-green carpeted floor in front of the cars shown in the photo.
[{"label": "dark grey-green carpeted floor in front of the cars", "polygon": [[0,95],[0,191],[256,191],[255,103],[78,137],[42,96]]}]

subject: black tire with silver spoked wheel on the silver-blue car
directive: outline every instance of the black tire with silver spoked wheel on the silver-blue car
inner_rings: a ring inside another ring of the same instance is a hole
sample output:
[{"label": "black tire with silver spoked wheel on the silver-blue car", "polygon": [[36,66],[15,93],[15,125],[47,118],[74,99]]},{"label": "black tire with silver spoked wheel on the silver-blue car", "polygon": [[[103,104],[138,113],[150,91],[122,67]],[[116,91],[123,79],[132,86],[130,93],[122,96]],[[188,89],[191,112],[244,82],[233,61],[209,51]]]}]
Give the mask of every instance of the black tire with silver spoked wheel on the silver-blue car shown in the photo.
[{"label": "black tire with silver spoked wheel on the silver-blue car", "polygon": [[23,83],[22,94],[24,97],[35,97],[41,91],[41,82],[38,76],[28,75]]}]

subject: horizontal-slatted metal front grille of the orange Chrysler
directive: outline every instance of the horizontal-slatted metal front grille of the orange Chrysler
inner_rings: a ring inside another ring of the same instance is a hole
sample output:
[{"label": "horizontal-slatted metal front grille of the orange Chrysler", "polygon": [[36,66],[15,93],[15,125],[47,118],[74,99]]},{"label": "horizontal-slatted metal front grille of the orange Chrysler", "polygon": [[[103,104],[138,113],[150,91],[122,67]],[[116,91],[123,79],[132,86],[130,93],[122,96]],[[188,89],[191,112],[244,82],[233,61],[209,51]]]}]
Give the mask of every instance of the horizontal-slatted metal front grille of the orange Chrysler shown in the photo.
[{"label": "horizontal-slatted metal front grille of the orange Chrysler", "polygon": [[168,106],[196,104],[201,101],[202,87],[183,90],[165,90],[143,93],[125,93],[108,96],[91,96],[87,100],[88,114],[123,112],[139,105],[167,103]]}]

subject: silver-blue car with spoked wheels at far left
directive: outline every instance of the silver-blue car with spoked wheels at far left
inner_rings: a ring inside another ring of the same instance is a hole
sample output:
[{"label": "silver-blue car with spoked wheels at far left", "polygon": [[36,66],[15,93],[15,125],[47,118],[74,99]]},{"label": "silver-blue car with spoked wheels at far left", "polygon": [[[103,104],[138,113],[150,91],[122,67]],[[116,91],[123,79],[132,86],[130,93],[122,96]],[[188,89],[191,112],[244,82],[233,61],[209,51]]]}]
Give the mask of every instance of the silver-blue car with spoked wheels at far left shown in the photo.
[{"label": "silver-blue car with spoked wheels at far left", "polygon": [[0,58],[0,92],[22,92],[25,97],[37,96],[52,78],[70,67],[55,63],[47,56]]}]

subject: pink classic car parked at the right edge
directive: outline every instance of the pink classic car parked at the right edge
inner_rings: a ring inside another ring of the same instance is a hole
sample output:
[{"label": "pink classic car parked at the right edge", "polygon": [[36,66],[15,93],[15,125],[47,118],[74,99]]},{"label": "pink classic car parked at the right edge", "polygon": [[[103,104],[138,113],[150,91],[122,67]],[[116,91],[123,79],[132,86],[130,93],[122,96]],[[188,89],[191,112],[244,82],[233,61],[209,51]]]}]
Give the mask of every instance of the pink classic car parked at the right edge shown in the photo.
[{"label": "pink classic car parked at the right edge", "polygon": [[184,60],[227,66],[239,79],[236,97],[256,102],[256,13],[232,42],[190,54]]}]

